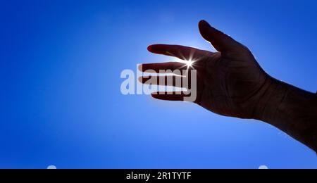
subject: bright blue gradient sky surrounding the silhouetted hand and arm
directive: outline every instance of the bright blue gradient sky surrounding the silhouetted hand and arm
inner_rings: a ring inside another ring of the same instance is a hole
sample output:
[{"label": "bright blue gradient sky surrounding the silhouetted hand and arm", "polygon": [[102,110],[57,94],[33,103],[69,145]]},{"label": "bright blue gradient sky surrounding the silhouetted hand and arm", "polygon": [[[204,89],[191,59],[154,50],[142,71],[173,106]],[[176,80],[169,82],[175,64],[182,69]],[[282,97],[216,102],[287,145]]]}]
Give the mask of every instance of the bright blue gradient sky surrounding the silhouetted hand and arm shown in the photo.
[{"label": "bright blue gradient sky surrounding the silhouetted hand and arm", "polygon": [[170,61],[155,43],[211,46],[201,19],[273,77],[317,89],[316,1],[0,1],[0,168],[317,168],[255,120],[123,96],[120,72]]}]

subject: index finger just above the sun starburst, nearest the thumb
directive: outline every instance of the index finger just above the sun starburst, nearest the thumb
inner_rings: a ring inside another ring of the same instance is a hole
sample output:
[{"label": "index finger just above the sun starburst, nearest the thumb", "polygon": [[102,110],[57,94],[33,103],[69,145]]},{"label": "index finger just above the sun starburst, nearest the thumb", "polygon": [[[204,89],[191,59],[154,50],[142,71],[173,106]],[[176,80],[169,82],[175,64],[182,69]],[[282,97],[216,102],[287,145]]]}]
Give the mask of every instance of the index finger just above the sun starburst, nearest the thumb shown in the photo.
[{"label": "index finger just above the sun starburst, nearest the thumb", "polygon": [[210,51],[204,51],[187,46],[168,44],[154,44],[149,46],[147,49],[151,53],[174,56],[184,61],[197,61],[197,59],[203,58],[204,56],[209,56],[211,54]]}]

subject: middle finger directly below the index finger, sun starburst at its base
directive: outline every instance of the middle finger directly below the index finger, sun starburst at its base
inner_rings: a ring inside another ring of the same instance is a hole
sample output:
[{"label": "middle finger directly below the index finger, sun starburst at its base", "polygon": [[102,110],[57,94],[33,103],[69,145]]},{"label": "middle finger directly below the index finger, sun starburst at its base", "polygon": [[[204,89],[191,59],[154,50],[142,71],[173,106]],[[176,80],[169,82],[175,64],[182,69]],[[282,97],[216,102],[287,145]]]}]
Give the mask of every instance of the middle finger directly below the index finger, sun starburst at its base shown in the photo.
[{"label": "middle finger directly below the index finger, sun starburst at its base", "polygon": [[186,70],[187,65],[180,62],[168,62],[168,63],[145,63],[139,65],[139,70],[142,72],[156,72],[159,73],[161,70]]}]

